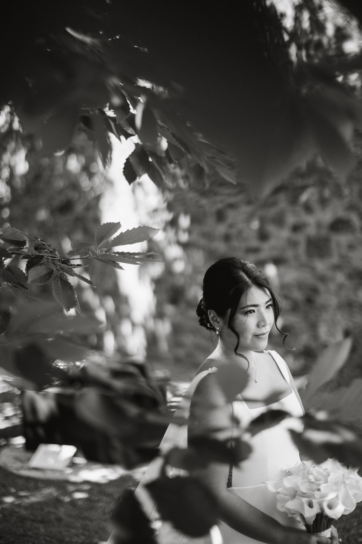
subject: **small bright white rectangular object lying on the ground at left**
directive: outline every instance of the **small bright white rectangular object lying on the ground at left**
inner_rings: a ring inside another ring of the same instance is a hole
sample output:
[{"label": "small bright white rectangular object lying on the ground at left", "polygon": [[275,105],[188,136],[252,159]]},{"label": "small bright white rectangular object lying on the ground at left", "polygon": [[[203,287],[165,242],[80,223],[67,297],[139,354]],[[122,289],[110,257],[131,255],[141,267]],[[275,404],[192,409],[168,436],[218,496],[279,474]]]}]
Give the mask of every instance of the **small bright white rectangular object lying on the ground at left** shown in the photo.
[{"label": "small bright white rectangular object lying on the ground at left", "polygon": [[75,446],[64,444],[39,444],[29,460],[29,467],[62,471],[69,465],[77,451]]}]

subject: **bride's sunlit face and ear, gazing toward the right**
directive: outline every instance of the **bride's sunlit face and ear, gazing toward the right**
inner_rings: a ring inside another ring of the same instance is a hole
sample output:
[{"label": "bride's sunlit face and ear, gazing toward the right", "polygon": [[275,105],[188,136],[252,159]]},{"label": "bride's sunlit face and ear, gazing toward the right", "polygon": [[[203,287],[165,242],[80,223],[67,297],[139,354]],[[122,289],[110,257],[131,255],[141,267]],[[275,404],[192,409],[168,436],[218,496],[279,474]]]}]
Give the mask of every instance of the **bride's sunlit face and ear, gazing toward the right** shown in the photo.
[{"label": "bride's sunlit face and ear, gazing toward the right", "polygon": [[[227,323],[227,322],[226,322]],[[268,344],[270,329],[274,323],[273,304],[267,289],[252,287],[242,296],[232,320],[232,326],[240,336],[238,351],[262,351]],[[223,341],[234,349],[236,338],[227,325],[223,327]]]}]

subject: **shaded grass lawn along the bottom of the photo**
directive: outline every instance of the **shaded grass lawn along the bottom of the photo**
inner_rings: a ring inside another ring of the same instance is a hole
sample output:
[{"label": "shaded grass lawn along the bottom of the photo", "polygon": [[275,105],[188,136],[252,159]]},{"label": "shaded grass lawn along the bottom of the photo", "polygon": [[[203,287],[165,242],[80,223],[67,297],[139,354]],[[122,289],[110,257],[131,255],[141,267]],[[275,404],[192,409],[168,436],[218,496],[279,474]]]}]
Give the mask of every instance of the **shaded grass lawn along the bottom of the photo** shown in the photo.
[{"label": "shaded grass lawn along the bottom of the photo", "polygon": [[[0,468],[0,544],[99,544],[107,540],[110,512],[124,476],[107,484],[37,480]],[[362,544],[362,503],[336,526],[342,544]]]}]

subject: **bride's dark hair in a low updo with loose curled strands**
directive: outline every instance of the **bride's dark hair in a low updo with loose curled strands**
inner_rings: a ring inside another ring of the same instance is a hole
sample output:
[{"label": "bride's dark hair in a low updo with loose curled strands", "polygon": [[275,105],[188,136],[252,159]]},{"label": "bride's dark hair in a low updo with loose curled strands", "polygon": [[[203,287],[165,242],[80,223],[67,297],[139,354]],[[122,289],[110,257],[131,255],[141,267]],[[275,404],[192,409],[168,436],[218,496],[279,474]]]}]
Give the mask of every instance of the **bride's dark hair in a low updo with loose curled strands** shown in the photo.
[{"label": "bride's dark hair in a low updo with loose curled strands", "polygon": [[273,303],[275,327],[277,331],[284,335],[283,344],[286,348],[284,342],[288,333],[278,329],[276,324],[282,309],[281,302],[277,299],[274,290],[270,287],[269,281],[264,274],[255,266],[255,264],[252,264],[249,261],[242,261],[242,259],[238,259],[237,257],[227,257],[212,264],[206,270],[204,281],[202,282],[202,299],[196,309],[200,325],[212,332],[215,332],[215,327],[209,320],[208,310],[214,310],[219,317],[224,318],[227,310],[230,309],[227,326],[237,337],[234,353],[243,358],[246,357],[237,353],[240,337],[232,326],[232,320],[238,309],[240,299],[243,295],[246,295],[252,287],[259,287],[269,291]]}]

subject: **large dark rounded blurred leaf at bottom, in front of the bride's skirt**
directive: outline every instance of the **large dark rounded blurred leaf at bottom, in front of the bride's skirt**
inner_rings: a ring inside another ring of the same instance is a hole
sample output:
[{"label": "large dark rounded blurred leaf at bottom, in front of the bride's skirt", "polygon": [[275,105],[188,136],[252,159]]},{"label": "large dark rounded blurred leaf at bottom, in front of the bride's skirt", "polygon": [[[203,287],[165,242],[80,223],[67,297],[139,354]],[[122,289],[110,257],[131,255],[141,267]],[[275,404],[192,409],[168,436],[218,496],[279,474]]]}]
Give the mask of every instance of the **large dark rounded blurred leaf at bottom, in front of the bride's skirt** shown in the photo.
[{"label": "large dark rounded blurred leaf at bottom, in front of the bride's skirt", "polygon": [[217,523],[217,500],[196,478],[159,478],[146,485],[161,518],[182,533],[200,537]]}]

